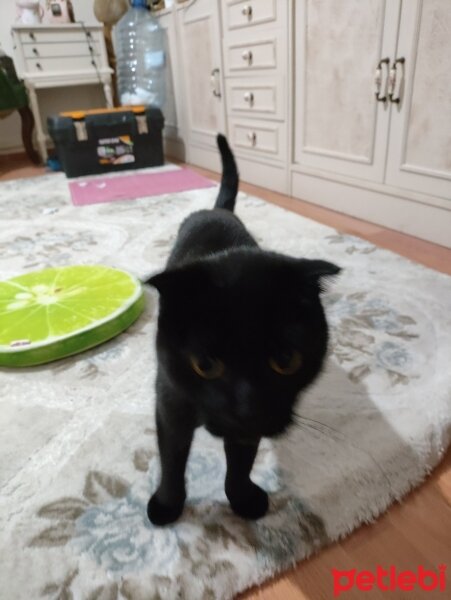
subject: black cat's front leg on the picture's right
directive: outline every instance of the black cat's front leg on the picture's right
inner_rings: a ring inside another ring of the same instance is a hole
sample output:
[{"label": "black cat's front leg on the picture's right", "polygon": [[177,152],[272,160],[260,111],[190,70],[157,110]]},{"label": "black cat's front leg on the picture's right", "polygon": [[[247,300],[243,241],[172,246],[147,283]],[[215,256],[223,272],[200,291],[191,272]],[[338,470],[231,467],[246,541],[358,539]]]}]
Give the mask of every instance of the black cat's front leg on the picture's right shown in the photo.
[{"label": "black cat's front leg on the picture's right", "polygon": [[260,440],[238,443],[224,440],[227,459],[225,492],[233,511],[245,519],[259,519],[268,510],[268,494],[250,479]]}]

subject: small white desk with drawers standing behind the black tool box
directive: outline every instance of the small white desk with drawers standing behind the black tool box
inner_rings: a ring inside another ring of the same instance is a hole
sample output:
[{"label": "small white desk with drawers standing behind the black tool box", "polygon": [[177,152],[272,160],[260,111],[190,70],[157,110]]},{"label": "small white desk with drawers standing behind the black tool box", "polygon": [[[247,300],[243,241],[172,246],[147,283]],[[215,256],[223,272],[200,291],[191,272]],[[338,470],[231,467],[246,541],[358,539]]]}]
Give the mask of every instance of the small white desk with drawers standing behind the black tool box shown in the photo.
[{"label": "small white desk with drawers standing behind the black tool box", "polygon": [[[15,25],[12,28],[16,69],[26,85],[36,121],[39,153],[47,160],[36,90],[85,84],[103,85],[106,104],[113,106],[112,69],[101,25]],[[73,107],[76,109],[77,107]]]}]

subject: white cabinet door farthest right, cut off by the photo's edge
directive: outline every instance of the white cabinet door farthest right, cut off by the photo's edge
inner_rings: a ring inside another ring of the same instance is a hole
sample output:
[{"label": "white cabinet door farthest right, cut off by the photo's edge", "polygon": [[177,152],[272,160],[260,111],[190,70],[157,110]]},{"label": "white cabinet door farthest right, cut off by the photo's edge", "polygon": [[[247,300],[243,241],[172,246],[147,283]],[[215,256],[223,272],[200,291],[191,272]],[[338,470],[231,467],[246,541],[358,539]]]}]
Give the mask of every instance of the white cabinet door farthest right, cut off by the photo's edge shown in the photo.
[{"label": "white cabinet door farthest right, cut off by the photo's edge", "polygon": [[451,201],[450,0],[403,2],[397,58],[387,183]]}]

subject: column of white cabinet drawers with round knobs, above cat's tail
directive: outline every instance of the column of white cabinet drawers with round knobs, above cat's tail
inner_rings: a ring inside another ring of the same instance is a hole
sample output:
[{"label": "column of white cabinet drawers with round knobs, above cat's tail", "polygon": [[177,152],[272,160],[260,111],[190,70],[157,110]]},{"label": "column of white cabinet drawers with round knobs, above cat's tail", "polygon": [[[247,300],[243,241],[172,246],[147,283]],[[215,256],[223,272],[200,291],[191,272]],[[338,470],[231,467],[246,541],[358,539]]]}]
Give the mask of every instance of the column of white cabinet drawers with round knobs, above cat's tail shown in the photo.
[{"label": "column of white cabinet drawers with round knobs, above cat's tail", "polygon": [[288,0],[222,0],[229,141],[241,178],[288,186]]}]

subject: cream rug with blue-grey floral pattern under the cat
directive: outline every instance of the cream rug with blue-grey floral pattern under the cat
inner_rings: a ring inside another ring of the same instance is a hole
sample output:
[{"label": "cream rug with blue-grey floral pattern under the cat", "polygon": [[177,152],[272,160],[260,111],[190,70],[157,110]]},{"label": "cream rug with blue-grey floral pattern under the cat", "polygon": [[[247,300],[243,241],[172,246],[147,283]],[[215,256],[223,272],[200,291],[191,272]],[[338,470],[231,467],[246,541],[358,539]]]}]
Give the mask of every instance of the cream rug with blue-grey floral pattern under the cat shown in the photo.
[{"label": "cream rug with blue-grey floral pattern under the cat", "polygon": [[[144,277],[216,189],[75,208],[61,174],[0,185],[0,277],[102,263]],[[154,528],[157,298],[132,328],[48,366],[0,370],[0,596],[8,600],[222,600],[376,518],[419,485],[451,438],[451,279],[240,195],[267,248],[332,260],[326,372],[304,419],[266,442],[253,477],[269,514],[235,517],[224,457],[203,431],[187,508]]]}]

